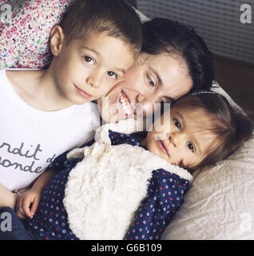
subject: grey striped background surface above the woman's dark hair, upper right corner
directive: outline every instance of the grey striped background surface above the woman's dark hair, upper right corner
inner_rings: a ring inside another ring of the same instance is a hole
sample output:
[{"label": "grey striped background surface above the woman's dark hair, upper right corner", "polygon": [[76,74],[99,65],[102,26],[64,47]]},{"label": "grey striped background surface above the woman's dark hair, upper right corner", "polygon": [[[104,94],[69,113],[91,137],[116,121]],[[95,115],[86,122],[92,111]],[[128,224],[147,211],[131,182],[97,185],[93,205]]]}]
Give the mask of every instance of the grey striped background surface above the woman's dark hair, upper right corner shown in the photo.
[{"label": "grey striped background surface above the woman's dark hair, upper right corner", "polygon": [[254,2],[246,0],[137,0],[137,8],[193,26],[214,54],[254,64],[254,21],[240,22],[247,3],[253,13]]}]

